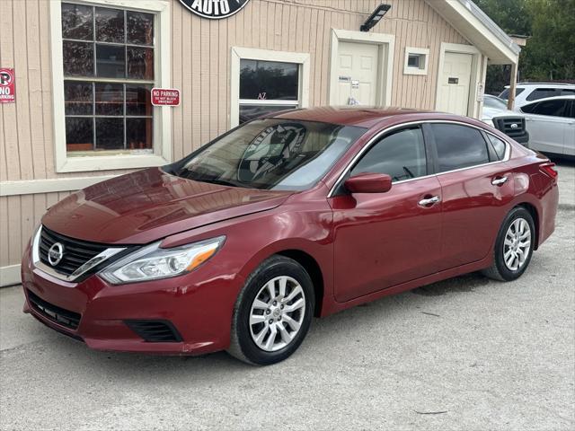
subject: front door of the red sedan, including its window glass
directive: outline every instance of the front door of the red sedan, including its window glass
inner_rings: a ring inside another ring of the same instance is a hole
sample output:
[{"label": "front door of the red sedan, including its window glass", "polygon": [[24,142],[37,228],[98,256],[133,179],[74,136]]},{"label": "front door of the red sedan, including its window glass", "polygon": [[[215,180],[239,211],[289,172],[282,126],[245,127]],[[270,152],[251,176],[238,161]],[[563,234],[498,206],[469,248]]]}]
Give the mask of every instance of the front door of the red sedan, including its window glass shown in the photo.
[{"label": "front door of the red sedan, including its window glass", "polygon": [[330,198],[339,302],[431,274],[440,259],[441,188],[427,176],[421,129],[373,145],[350,175],[364,172],[387,173],[394,183],[386,193],[341,189]]}]

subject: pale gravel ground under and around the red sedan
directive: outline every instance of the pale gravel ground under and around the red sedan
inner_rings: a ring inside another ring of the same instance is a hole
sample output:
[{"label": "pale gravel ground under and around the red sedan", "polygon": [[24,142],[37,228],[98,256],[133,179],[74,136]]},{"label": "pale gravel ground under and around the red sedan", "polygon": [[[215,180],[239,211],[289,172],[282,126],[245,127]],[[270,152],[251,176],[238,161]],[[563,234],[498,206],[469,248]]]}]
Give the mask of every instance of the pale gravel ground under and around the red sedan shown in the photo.
[{"label": "pale gravel ground under and around the red sedan", "polygon": [[526,274],[456,277],[315,320],[287,361],[89,350],[0,290],[2,429],[575,429],[575,168]]}]

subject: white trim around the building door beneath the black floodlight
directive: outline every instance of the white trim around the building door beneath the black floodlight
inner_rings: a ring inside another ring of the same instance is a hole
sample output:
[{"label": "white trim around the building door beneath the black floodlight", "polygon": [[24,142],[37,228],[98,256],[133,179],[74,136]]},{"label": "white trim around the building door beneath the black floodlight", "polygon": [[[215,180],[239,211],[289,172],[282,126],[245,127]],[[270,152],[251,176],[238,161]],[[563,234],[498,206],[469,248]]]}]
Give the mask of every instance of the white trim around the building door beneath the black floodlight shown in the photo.
[{"label": "white trim around the building door beneath the black floodlight", "polygon": [[395,36],[393,34],[369,33],[367,31],[349,31],[332,29],[332,47],[330,55],[330,84],[328,104],[336,104],[338,92],[338,52],[340,41],[370,43],[379,47],[377,65],[377,99],[378,105],[391,105],[392,84],[394,81]]}]

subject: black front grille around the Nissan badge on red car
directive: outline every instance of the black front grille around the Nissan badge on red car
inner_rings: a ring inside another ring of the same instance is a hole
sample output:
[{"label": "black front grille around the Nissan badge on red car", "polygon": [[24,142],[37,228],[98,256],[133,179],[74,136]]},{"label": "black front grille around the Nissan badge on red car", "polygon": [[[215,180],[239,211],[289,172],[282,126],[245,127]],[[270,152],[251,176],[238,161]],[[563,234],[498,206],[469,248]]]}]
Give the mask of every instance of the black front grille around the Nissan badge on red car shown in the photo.
[{"label": "black front grille around the Nissan badge on red car", "polygon": [[[53,266],[49,262],[48,251],[56,242],[62,244],[64,254],[57,265]],[[42,226],[42,231],[40,233],[40,261],[43,264],[48,265],[50,268],[54,268],[58,273],[66,276],[70,276],[77,268],[80,268],[88,260],[97,256],[107,248],[108,247],[104,244],[69,238],[60,233],[50,231],[45,226]]]}]

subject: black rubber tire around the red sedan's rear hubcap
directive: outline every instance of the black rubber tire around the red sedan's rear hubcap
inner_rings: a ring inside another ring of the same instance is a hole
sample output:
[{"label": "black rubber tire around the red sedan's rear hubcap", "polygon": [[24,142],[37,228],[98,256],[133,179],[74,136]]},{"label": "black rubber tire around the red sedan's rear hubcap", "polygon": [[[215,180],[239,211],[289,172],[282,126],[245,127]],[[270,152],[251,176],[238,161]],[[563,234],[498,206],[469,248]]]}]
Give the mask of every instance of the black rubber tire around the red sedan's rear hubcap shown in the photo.
[{"label": "black rubber tire around the red sedan's rear hubcap", "polygon": [[[505,263],[504,253],[505,253],[505,236],[509,230],[509,226],[513,224],[517,219],[522,218],[529,225],[531,231],[530,244],[528,249],[528,254],[525,262],[516,270],[508,268]],[[524,207],[515,207],[503,220],[501,224],[500,231],[497,234],[497,240],[495,242],[495,248],[493,249],[493,263],[491,268],[486,268],[482,270],[482,274],[486,277],[490,277],[494,280],[499,281],[512,281],[521,277],[525,272],[526,268],[529,266],[529,262],[533,257],[533,250],[535,247],[535,223],[531,213],[527,211]]]}]

